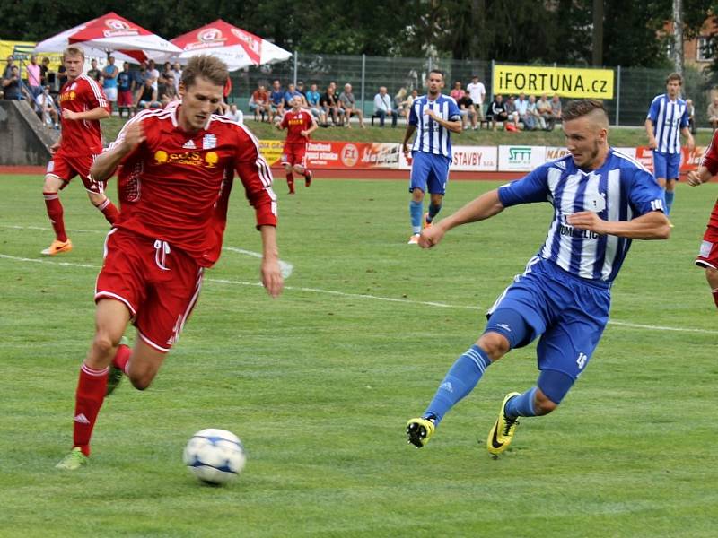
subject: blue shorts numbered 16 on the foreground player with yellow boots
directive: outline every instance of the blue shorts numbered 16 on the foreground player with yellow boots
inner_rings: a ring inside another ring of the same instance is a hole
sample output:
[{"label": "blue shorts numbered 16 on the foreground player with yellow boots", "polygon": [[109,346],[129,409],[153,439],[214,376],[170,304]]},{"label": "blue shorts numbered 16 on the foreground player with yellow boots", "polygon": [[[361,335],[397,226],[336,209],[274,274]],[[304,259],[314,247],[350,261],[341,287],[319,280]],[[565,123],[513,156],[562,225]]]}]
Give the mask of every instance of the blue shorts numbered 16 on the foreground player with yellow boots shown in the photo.
[{"label": "blue shorts numbered 16 on the foreground player with yellow boots", "polygon": [[609,286],[574,276],[538,256],[526,267],[489,308],[487,328],[494,330],[491,314],[496,309],[517,312],[529,330],[514,347],[523,347],[540,335],[538,369],[563,372],[575,381],[609,322]]}]

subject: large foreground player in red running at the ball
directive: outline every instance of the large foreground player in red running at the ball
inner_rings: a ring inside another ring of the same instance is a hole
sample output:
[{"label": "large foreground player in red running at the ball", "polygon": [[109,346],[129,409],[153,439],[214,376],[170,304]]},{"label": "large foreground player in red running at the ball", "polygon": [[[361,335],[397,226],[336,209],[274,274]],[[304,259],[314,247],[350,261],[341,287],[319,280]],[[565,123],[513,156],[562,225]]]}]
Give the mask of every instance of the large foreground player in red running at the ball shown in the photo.
[{"label": "large foreground player in red running at the ball", "polygon": [[[152,383],[195,306],[204,270],[220,255],[235,172],[256,213],[262,283],[272,297],[282,291],[271,172],[249,131],[212,114],[226,79],[222,61],[192,58],[180,105],[138,114],[92,165],[98,179],[120,163],[137,169],[122,172],[127,192],[97,278],[95,335],[75,395],[74,448],[58,468],[87,463],[97,414],[123,373],[139,390]],[[130,321],[138,335],[133,350],[120,343]]]}]

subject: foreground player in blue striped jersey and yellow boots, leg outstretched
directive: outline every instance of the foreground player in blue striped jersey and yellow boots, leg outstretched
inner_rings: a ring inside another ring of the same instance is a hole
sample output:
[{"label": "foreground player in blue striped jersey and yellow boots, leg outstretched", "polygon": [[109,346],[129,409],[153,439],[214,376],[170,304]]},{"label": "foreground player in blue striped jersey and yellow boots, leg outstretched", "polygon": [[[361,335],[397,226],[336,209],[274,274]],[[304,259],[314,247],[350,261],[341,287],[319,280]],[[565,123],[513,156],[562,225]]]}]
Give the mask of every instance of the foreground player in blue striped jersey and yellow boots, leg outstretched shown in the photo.
[{"label": "foreground player in blue striped jersey and yellow boots, leg outstretched", "polygon": [[518,417],[552,412],[586,368],[609,321],[611,283],[631,240],[668,239],[661,187],[642,165],[609,147],[608,127],[600,101],[570,103],[563,128],[571,155],[479,196],[422,230],[419,246],[434,247],[448,230],[493,217],[510,205],[554,206],[544,245],[489,309],[484,334],[451,367],[424,415],[408,421],[409,443],[423,447],[444,414],[493,362],[539,337],[536,386],[506,395],[486,439],[492,455],[502,453]]}]

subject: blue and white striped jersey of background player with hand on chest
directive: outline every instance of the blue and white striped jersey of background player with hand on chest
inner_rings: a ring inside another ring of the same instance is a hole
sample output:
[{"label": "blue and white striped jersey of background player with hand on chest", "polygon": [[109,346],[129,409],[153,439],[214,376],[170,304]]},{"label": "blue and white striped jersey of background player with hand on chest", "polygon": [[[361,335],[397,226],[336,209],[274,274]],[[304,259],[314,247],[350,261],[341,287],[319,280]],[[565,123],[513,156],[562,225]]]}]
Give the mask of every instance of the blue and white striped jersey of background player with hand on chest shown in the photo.
[{"label": "blue and white striped jersey of background player with hand on chest", "polygon": [[456,101],[447,95],[440,95],[436,100],[429,100],[426,95],[416,98],[409,111],[409,125],[417,128],[411,151],[443,155],[451,161],[451,133],[425,115],[427,108],[446,121],[461,119]]}]

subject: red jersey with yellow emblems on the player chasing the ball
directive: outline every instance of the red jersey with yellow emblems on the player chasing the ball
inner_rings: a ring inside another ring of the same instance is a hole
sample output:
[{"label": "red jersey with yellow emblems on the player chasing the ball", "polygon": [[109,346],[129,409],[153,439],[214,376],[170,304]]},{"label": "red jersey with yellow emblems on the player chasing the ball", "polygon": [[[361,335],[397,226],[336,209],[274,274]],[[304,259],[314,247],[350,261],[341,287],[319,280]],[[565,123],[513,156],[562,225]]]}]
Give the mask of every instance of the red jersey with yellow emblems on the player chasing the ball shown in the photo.
[{"label": "red jersey with yellow emblems on the player chasing the ball", "polygon": [[[189,134],[178,125],[179,106],[138,114],[146,139],[122,162],[115,226],[162,239],[209,267],[219,258],[227,202],[236,171],[255,208],[257,225],[276,226],[272,174],[248,130],[212,115]],[[122,143],[125,128],[110,149]]]}]

